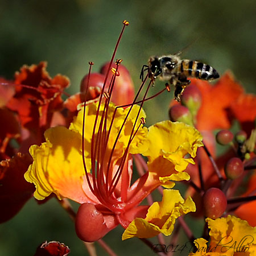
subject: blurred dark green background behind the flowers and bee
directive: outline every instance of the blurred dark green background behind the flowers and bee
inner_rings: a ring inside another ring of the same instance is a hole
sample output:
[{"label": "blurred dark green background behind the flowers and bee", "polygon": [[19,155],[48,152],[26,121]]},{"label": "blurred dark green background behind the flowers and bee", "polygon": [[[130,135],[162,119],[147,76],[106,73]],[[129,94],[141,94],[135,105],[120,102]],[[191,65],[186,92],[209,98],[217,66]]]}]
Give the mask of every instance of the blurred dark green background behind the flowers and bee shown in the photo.
[{"label": "blurred dark green background behind the flowers and bee", "polygon": [[[220,74],[228,69],[247,92],[256,92],[255,1],[103,1],[0,0],[0,76],[11,79],[23,64],[48,61],[48,71],[71,79],[68,93],[79,91],[81,78],[94,61],[96,72],[108,61],[122,20],[129,20],[117,58],[129,69],[138,88],[139,73],[151,55],[183,53]],[[152,93],[163,83],[157,82]],[[171,94],[145,104],[147,123],[167,118]],[[1,209],[0,209],[1,210]],[[118,255],[154,255],[136,239],[121,242],[122,229],[105,240]],[[55,200],[37,205],[30,200],[9,222],[0,225],[0,255],[33,255],[43,241],[57,240],[69,255],[87,255],[73,224]],[[98,255],[106,253],[99,249]],[[186,253],[182,255],[187,255]]]}]

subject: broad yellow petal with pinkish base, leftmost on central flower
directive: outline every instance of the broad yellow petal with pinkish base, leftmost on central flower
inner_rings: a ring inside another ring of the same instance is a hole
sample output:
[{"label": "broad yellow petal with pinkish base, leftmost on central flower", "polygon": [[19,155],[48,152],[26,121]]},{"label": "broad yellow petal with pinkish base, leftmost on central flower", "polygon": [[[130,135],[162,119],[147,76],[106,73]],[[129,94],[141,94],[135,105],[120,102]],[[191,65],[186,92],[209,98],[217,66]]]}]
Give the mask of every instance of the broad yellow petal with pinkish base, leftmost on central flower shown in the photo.
[{"label": "broad yellow petal with pinkish base, leftmost on central flower", "polygon": [[82,203],[85,195],[80,134],[59,126],[48,129],[44,136],[45,143],[30,147],[34,162],[24,174],[36,186],[34,197],[43,200],[53,192],[59,199],[68,197]]}]

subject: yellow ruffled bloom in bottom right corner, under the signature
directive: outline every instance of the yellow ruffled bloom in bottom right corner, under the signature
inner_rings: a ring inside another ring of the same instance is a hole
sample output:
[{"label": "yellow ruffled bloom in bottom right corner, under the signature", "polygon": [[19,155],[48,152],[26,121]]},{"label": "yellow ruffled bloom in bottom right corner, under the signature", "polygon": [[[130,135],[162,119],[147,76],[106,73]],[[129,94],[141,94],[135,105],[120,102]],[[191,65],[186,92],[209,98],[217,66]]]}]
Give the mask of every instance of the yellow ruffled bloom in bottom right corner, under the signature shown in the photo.
[{"label": "yellow ruffled bloom in bottom right corner, under the signature", "polygon": [[231,215],[216,220],[207,218],[206,221],[210,229],[210,242],[204,238],[195,240],[197,251],[190,253],[190,256],[255,255],[256,228],[251,227],[247,221]]}]

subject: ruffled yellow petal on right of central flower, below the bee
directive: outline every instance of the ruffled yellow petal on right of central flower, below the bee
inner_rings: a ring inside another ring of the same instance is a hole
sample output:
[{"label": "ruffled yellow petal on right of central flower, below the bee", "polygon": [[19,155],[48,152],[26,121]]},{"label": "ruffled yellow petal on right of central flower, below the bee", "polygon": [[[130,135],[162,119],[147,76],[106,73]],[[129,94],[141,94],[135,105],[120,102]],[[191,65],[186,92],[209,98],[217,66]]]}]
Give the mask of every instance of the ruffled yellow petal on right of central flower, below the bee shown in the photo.
[{"label": "ruffled yellow petal on right of central flower, below the bee", "polygon": [[[148,129],[148,171],[155,172],[161,182],[188,180],[184,175],[188,163],[194,163],[198,147],[203,146],[202,136],[195,128],[180,122],[163,121]],[[188,158],[190,155],[192,158]]]}]

